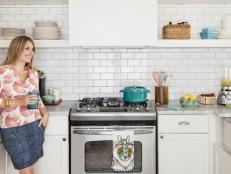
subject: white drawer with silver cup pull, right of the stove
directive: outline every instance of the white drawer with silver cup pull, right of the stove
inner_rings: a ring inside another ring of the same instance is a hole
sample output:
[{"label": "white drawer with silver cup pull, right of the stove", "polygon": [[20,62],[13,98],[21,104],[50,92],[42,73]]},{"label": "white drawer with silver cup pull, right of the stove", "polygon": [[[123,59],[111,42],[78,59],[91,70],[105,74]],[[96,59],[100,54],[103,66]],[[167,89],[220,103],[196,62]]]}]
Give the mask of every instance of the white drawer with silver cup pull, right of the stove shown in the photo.
[{"label": "white drawer with silver cup pull, right of the stove", "polygon": [[160,133],[208,133],[208,115],[159,116]]}]

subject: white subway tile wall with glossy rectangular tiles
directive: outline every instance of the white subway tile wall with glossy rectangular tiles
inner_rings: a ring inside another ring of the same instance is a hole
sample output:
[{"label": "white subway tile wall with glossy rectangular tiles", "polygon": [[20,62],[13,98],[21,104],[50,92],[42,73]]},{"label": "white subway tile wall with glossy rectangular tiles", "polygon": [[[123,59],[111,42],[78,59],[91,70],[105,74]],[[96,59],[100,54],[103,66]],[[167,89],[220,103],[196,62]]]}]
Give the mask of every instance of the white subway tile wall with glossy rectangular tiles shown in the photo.
[{"label": "white subway tile wall with glossy rectangular tiles", "polygon": [[[188,20],[192,37],[197,38],[196,31],[204,26],[219,28],[225,13],[231,13],[230,5],[160,5],[159,31],[169,20]],[[66,5],[0,6],[2,27],[23,27],[31,35],[35,20],[56,20],[63,28],[63,38],[68,38]],[[0,49],[0,60],[5,53]],[[47,87],[61,89],[63,99],[119,96],[127,85],[146,86],[153,98],[154,70],[173,74],[170,99],[177,99],[185,92],[218,92],[222,68],[231,66],[231,48],[37,49],[35,63],[47,73]]]}]

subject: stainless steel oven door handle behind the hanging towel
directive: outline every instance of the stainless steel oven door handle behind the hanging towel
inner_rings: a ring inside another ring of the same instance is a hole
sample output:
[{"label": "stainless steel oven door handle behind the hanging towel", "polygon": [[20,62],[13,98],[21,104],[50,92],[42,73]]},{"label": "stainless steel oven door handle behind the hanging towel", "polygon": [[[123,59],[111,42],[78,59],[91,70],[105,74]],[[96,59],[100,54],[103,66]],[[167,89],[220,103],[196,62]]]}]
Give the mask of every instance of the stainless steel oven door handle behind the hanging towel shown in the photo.
[{"label": "stainless steel oven door handle behind the hanging towel", "polygon": [[[73,133],[80,134],[80,135],[113,135],[113,130],[73,130]],[[135,135],[152,134],[152,133],[153,130],[134,130]]]}]

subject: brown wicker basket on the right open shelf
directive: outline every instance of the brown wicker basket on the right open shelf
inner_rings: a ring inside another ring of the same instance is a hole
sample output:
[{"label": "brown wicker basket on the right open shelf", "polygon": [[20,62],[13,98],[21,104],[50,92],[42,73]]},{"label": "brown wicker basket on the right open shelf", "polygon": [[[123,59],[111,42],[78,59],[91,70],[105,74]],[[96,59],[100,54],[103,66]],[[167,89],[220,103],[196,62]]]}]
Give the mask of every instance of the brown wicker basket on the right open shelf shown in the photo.
[{"label": "brown wicker basket on the right open shelf", "polygon": [[163,39],[190,39],[190,28],[188,23],[182,22],[178,24],[172,24],[163,27]]}]

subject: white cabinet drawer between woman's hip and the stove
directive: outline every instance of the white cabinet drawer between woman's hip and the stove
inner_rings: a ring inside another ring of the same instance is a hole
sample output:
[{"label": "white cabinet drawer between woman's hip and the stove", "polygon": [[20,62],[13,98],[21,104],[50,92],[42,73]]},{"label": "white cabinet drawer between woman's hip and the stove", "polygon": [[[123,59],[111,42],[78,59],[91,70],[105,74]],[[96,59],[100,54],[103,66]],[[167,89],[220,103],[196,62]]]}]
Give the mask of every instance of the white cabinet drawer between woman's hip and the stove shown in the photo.
[{"label": "white cabinet drawer between woman's hip and the stove", "polygon": [[68,116],[50,116],[45,135],[68,135]]}]

